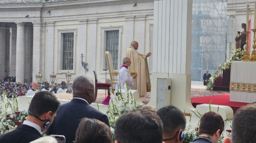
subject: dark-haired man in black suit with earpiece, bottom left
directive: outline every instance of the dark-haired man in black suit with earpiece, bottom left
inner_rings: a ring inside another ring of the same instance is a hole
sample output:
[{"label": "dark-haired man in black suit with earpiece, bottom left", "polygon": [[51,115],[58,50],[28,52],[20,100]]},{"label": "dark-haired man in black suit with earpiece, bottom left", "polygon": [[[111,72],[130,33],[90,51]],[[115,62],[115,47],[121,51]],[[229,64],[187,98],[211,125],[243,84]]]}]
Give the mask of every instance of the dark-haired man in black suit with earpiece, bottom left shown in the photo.
[{"label": "dark-haired man in black suit with earpiece, bottom left", "polygon": [[57,98],[48,91],[36,93],[28,108],[27,120],[17,129],[0,136],[1,143],[28,143],[42,137],[60,107]]}]

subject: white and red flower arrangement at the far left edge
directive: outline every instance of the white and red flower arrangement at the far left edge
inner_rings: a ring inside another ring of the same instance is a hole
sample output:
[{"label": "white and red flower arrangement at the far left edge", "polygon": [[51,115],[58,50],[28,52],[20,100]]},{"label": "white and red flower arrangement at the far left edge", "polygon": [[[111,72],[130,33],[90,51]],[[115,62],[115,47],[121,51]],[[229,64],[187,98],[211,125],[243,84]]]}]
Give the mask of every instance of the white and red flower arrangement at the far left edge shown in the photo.
[{"label": "white and red flower arrangement at the far left edge", "polygon": [[8,99],[5,96],[2,97],[0,102],[0,135],[8,133],[11,130],[16,129],[26,120],[28,112],[19,111],[17,97]]}]

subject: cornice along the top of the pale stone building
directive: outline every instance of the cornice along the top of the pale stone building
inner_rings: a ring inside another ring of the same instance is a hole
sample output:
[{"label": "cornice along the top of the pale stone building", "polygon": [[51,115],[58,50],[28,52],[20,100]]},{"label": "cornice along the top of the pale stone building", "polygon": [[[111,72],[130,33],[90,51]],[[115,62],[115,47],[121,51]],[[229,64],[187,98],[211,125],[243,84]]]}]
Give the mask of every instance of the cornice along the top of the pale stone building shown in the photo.
[{"label": "cornice along the top of the pale stone building", "polygon": [[109,1],[61,1],[37,2],[22,4],[0,4],[0,11],[37,11],[37,10],[63,10],[73,8],[101,7],[108,5],[134,4],[140,2],[154,2],[154,0],[109,0]]}]

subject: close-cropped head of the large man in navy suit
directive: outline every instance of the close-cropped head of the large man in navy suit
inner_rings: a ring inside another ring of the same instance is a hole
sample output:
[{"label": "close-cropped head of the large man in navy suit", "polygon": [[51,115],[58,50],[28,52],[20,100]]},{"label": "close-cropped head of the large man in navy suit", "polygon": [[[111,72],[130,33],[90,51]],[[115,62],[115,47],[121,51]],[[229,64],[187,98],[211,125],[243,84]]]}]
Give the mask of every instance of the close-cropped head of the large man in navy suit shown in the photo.
[{"label": "close-cropped head of the large man in navy suit", "polygon": [[96,96],[94,93],[94,85],[92,81],[90,81],[85,76],[76,77],[73,81],[72,88],[73,97],[86,99],[89,104],[95,102]]}]

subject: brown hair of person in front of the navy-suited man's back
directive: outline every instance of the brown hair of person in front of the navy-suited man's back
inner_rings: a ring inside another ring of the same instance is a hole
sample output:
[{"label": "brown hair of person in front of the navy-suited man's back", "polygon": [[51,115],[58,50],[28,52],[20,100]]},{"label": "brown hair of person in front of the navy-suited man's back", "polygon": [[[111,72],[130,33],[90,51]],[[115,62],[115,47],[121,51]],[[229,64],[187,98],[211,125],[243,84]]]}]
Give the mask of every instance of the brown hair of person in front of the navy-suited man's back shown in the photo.
[{"label": "brown hair of person in front of the navy-suited man's back", "polygon": [[82,118],[76,130],[75,142],[111,143],[113,134],[110,127],[102,121]]}]

